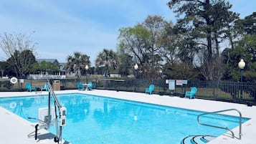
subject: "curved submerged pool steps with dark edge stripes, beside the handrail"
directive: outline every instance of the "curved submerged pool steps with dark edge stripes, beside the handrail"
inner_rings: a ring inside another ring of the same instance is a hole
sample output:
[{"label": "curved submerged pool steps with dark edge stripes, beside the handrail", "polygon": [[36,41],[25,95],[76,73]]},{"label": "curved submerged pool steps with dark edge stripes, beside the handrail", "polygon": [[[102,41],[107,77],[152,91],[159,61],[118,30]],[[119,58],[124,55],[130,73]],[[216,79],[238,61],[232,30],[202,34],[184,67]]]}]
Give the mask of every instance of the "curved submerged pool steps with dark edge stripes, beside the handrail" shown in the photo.
[{"label": "curved submerged pool steps with dark edge stripes, beside the handrail", "polygon": [[216,138],[212,135],[189,135],[183,140],[181,140],[181,144],[204,144]]}]

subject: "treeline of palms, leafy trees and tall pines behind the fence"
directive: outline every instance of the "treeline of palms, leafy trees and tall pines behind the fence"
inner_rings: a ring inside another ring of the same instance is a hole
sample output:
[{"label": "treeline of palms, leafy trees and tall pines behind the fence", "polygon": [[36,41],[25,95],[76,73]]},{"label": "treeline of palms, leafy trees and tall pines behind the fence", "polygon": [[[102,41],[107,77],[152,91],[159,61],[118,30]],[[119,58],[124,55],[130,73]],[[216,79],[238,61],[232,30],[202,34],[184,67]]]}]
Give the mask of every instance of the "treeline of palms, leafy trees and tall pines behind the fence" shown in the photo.
[{"label": "treeline of palms, leafy trees and tall pines behind the fence", "polygon": [[[224,0],[172,0],[168,6],[177,14],[176,24],[162,16],[148,16],[133,27],[120,28],[116,51],[103,49],[95,67],[91,67],[90,56],[74,52],[67,56],[67,72],[77,77],[87,72],[127,77],[135,73],[133,66],[137,63],[141,78],[239,81],[237,64],[244,59],[243,80],[255,82],[256,12],[240,19]],[[6,49],[3,42],[9,35],[5,36],[1,37],[2,49]],[[34,44],[29,46],[33,48]],[[12,51],[10,59],[16,62],[11,57],[22,55],[25,48]],[[26,54],[33,54],[32,49]],[[31,63],[33,59],[26,67],[14,65],[14,72],[27,72],[32,69]],[[90,69],[85,69],[86,64]]]}]

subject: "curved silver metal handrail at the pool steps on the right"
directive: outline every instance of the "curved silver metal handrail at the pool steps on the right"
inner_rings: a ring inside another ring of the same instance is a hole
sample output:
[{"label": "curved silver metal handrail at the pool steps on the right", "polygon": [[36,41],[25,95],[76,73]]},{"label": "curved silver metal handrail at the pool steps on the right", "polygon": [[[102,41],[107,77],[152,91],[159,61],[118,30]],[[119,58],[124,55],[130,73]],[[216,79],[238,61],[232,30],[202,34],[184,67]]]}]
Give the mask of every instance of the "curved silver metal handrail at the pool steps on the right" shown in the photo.
[{"label": "curved silver metal handrail at the pool steps on the right", "polygon": [[199,123],[200,125],[206,125],[206,126],[213,127],[213,128],[220,128],[220,129],[224,129],[224,130],[229,130],[229,132],[232,133],[232,138],[234,138],[234,133],[229,128],[227,128],[227,127],[224,128],[224,127],[220,127],[220,126],[216,126],[216,125],[209,125],[209,124],[205,124],[205,123],[200,123],[200,120],[199,120],[199,117],[201,117],[202,115],[209,115],[209,114],[219,113],[219,112],[227,112],[227,111],[231,111],[231,110],[234,110],[234,111],[238,112],[239,115],[240,115],[240,120],[239,120],[239,139],[241,140],[241,137],[242,137],[242,114],[237,109],[219,110],[219,111],[216,111],[216,112],[206,112],[206,113],[200,114],[200,115],[197,116],[197,123]]}]

